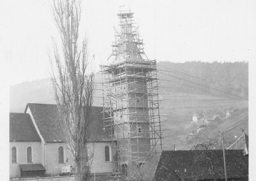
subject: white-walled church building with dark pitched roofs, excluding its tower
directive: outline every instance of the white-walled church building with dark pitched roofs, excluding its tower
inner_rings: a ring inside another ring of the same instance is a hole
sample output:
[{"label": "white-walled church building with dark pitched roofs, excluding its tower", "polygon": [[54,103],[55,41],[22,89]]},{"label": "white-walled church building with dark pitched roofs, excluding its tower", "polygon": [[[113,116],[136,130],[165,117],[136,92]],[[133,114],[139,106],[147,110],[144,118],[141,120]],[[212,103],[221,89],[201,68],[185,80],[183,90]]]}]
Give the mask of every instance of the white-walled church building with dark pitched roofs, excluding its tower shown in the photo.
[{"label": "white-walled church building with dark pitched roofs, excluding its tower", "polygon": [[[60,175],[72,169],[73,156],[65,142],[56,105],[31,104],[24,113],[10,113],[10,178]],[[116,150],[103,130],[102,107],[92,107],[92,173],[116,171]]]}]

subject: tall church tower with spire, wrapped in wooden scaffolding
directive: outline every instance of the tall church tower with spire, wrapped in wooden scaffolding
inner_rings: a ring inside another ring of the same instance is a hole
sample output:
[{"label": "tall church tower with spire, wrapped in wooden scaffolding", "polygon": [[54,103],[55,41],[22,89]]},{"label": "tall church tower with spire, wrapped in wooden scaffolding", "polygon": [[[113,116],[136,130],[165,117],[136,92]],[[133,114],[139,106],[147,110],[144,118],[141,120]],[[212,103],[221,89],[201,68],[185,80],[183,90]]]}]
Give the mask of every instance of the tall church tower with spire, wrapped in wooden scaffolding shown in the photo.
[{"label": "tall church tower with spire, wrapped in wooden scaffolding", "polygon": [[102,65],[104,130],[117,150],[116,165],[125,174],[162,149],[157,68],[148,60],[133,13],[119,11],[108,65]]}]

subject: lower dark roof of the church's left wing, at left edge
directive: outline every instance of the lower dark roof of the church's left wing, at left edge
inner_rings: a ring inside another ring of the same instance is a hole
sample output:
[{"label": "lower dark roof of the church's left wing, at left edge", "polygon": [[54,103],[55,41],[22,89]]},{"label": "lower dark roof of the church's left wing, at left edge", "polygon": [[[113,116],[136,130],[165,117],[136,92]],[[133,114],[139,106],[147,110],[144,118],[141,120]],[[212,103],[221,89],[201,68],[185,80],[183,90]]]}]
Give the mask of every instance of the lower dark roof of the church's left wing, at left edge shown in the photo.
[{"label": "lower dark roof of the church's left wing, at left edge", "polygon": [[10,113],[10,141],[41,141],[28,113]]}]

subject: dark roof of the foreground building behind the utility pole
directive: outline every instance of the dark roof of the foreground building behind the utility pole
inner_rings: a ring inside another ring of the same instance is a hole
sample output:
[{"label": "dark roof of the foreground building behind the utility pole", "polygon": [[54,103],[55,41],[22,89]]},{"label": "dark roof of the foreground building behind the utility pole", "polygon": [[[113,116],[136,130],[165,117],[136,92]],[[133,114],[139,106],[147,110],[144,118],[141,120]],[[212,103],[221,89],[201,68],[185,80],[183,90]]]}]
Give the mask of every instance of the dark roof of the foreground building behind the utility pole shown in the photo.
[{"label": "dark roof of the foreground building behind the utility pole", "polygon": [[[225,156],[228,178],[248,178],[248,157],[243,150],[226,150]],[[155,180],[213,178],[225,178],[222,150],[163,151],[155,173]]]}]

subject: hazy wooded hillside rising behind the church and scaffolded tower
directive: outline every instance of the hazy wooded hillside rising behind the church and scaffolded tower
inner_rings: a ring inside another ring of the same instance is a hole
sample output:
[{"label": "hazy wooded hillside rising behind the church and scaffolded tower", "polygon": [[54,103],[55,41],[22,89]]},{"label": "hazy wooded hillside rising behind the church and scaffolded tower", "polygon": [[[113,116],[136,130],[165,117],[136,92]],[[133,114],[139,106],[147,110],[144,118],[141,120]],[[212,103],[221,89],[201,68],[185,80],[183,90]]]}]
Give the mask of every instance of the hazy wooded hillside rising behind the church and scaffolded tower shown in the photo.
[{"label": "hazy wooded hillside rising behind the church and scaffolded tower", "polygon": [[[158,62],[160,111],[164,127],[163,148],[188,148],[186,136],[194,113],[225,115],[228,109],[239,111],[228,122],[214,127],[209,137],[220,138],[227,130],[227,143],[241,130],[248,133],[248,63]],[[94,105],[102,106],[101,76],[95,74]],[[49,79],[24,82],[10,87],[10,112],[24,112],[26,103],[54,104]],[[247,119],[246,119],[247,118]],[[199,126],[199,125],[198,125]]]}]

